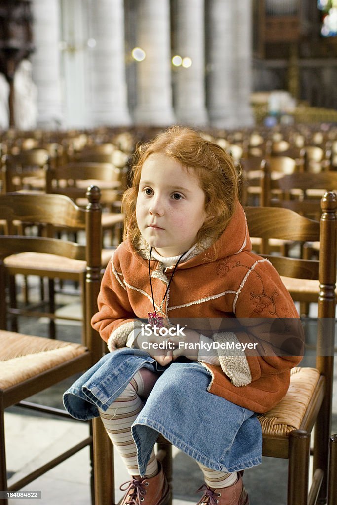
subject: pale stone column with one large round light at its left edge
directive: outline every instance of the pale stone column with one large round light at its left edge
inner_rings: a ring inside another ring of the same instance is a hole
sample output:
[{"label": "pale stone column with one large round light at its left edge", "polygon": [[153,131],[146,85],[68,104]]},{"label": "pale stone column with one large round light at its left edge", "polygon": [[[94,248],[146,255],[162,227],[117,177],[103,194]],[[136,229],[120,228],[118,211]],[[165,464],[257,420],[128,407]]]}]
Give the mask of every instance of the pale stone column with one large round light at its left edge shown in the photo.
[{"label": "pale stone column with one large round light at its left edge", "polygon": [[139,0],[137,45],[146,53],[137,63],[137,124],[174,122],[171,91],[169,0]]}]

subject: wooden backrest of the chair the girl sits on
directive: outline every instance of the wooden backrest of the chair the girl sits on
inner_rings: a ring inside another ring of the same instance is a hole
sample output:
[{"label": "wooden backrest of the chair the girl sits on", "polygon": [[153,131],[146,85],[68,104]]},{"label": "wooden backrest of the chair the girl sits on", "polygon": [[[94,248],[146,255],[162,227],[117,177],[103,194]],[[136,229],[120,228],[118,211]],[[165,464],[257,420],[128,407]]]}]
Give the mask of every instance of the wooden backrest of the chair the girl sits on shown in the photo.
[{"label": "wooden backrest of the chair the girl sits on", "polygon": [[[318,279],[318,333],[316,368],[326,381],[324,409],[326,422],[331,418],[333,347],[335,331],[336,282],[336,209],[337,195],[325,193],[321,200],[320,222],[298,215],[289,209],[246,207],[251,236],[264,239],[320,241],[319,260],[302,260],[265,256],[280,275],[296,279]],[[301,282],[301,281],[299,281]]]}]

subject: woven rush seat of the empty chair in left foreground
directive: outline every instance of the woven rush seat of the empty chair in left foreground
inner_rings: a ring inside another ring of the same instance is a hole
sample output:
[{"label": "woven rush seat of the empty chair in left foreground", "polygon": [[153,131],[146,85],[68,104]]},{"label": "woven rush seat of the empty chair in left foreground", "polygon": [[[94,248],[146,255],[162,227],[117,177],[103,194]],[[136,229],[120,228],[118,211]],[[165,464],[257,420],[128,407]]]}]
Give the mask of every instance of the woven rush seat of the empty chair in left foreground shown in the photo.
[{"label": "woven rush seat of the empty chair in left foreground", "polygon": [[0,330],[0,390],[87,352],[81,344]]}]

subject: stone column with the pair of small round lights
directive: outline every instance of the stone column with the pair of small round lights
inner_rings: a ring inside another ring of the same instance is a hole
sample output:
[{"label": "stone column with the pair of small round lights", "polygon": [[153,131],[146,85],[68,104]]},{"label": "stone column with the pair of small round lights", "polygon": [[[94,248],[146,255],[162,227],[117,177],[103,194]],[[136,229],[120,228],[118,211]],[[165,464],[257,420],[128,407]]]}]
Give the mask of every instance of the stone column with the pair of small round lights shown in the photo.
[{"label": "stone column with the pair of small round lights", "polygon": [[179,123],[207,124],[205,96],[204,0],[175,2],[174,52],[189,57],[189,68],[175,68],[174,102]]}]

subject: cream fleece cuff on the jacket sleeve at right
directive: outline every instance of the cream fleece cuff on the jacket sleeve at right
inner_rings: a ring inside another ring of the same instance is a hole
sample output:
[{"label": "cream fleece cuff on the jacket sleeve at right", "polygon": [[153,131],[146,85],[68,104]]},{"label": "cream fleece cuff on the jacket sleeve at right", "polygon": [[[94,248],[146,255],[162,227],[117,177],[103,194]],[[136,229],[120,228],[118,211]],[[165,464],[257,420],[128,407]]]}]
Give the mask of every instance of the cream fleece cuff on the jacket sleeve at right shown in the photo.
[{"label": "cream fleece cuff on the jacket sleeve at right", "polygon": [[[226,343],[233,342],[233,349],[226,348],[226,356],[220,356],[219,363],[221,370],[229,377],[234,386],[247,386],[252,382],[252,375],[248,365],[245,352],[239,348],[240,342],[236,335],[232,332],[220,332],[213,335],[213,340],[216,342]],[[236,348],[235,344],[239,344]],[[219,348],[220,353],[223,352]]]}]

